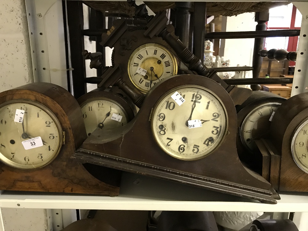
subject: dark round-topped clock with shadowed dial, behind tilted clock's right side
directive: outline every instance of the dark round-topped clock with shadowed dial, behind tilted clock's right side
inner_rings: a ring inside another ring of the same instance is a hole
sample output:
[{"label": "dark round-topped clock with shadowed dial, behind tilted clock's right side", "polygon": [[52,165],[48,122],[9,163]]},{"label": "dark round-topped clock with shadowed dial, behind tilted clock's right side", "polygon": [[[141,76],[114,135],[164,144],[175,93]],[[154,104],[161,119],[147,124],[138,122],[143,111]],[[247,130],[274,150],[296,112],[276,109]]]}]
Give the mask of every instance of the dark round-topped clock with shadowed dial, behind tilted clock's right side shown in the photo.
[{"label": "dark round-topped clock with shadowed dial, behind tilted clock's right side", "polygon": [[269,137],[271,117],[286,99],[267,91],[253,91],[252,95],[237,107],[237,153],[250,168],[262,171],[262,155],[255,140]]}]

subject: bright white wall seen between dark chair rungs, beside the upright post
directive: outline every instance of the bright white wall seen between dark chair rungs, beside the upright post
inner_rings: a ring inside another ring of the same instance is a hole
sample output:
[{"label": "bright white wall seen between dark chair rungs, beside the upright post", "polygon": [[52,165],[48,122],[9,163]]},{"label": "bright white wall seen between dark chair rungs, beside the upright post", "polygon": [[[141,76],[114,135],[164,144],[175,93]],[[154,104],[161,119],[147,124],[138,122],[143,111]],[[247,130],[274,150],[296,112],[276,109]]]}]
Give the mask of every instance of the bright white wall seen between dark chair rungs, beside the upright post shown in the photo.
[{"label": "bright white wall seen between dark chair rungs, beside the upright post", "polygon": [[[254,21],[254,13],[244,13],[227,17],[226,31],[251,31],[256,30],[257,22]],[[230,59],[231,67],[252,66],[254,39],[226,39],[225,60]],[[252,76],[249,71],[249,76]]]}]

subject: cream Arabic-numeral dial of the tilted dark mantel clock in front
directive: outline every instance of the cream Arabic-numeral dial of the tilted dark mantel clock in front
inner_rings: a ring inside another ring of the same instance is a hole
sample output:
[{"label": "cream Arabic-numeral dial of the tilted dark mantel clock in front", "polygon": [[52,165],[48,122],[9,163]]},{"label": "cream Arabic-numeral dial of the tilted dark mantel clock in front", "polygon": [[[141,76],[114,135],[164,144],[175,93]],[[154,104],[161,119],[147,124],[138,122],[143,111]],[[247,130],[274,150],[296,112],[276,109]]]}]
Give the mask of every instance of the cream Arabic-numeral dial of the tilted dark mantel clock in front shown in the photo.
[{"label": "cream Arabic-numeral dial of the tilted dark mantel clock in front", "polygon": [[[185,99],[180,106],[171,98],[176,91]],[[200,120],[201,127],[189,128],[188,120]],[[228,124],[225,107],[217,95],[191,85],[172,89],[160,98],[152,112],[151,127],[164,152],[178,159],[196,160],[220,145]]]}]

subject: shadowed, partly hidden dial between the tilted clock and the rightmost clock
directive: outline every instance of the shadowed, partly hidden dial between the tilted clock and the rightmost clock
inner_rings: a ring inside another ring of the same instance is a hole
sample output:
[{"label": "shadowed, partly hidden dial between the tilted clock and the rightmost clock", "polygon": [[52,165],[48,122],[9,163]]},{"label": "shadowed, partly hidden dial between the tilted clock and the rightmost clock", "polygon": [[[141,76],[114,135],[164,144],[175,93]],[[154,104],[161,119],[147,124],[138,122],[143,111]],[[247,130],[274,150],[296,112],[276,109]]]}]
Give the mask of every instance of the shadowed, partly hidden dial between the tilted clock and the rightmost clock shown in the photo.
[{"label": "shadowed, partly hidden dial between the tilted clock and the rightmost clock", "polygon": [[243,121],[240,136],[244,146],[251,152],[257,149],[254,140],[265,138],[269,133],[270,118],[281,103],[265,103],[258,105]]}]

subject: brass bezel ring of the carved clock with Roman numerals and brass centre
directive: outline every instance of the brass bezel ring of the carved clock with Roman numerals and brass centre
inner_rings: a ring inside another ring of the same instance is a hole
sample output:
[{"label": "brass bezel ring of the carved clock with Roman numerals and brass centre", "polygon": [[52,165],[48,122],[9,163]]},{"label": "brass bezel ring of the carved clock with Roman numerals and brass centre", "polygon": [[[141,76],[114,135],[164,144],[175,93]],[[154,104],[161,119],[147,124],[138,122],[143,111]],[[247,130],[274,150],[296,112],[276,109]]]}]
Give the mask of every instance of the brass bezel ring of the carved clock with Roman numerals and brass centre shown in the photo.
[{"label": "brass bezel ring of the carved clock with Roman numerals and brass centre", "polygon": [[131,55],[131,56],[129,57],[129,59],[128,59],[128,63],[127,63],[127,74],[128,74],[128,77],[129,77],[129,80],[131,81],[131,83],[132,83],[139,91],[141,91],[142,93],[145,93],[145,94],[148,93],[148,91],[142,89],[141,87],[139,87],[137,84],[134,83],[133,78],[132,78],[132,76],[131,76],[131,74],[130,74],[130,71],[129,71],[129,67],[130,67],[130,63],[131,63],[131,61],[132,61],[132,58],[133,58],[133,56],[137,53],[137,51],[139,51],[140,49],[143,49],[143,48],[145,48],[145,47],[148,47],[148,46],[156,46],[156,47],[159,47],[160,49],[164,50],[164,51],[171,57],[171,59],[172,59],[171,61],[172,61],[172,63],[173,63],[173,75],[176,75],[176,74],[177,74],[177,68],[178,68],[178,67],[177,67],[177,62],[176,62],[175,56],[174,56],[170,51],[168,51],[166,47],[164,47],[164,46],[162,46],[162,45],[160,45],[160,44],[157,44],[157,43],[146,43],[146,44],[144,44],[144,45],[142,45],[142,46],[136,48],[135,51],[132,52],[132,55]]}]

